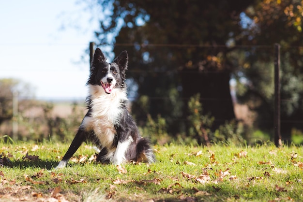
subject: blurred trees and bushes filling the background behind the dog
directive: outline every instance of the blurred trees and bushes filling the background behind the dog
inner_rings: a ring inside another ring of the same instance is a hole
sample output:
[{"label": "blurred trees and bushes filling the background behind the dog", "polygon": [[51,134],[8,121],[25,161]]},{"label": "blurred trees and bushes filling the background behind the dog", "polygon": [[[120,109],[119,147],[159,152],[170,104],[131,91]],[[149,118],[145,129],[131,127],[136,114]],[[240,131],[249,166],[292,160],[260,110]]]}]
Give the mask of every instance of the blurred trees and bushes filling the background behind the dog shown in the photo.
[{"label": "blurred trees and bushes filling the background behind the dog", "polygon": [[[282,139],[303,142],[303,0],[84,1],[106,15],[96,46],[108,55],[128,51],[130,111],[153,143],[272,141],[274,43],[281,45]],[[0,135],[12,135],[17,120],[19,139],[73,138],[83,102],[54,115],[57,103],[20,99],[17,86],[30,89],[0,80]]]}]

